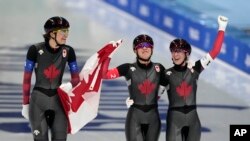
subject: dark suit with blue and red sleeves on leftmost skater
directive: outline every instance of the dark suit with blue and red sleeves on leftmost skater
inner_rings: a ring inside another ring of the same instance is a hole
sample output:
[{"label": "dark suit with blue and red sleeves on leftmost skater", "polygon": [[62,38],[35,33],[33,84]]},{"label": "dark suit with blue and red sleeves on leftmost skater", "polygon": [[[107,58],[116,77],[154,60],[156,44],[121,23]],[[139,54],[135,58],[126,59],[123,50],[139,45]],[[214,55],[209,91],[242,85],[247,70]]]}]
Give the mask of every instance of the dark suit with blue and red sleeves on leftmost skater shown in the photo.
[{"label": "dark suit with blue and red sleeves on leftmost skater", "polygon": [[[48,140],[49,127],[53,141],[66,140],[67,119],[57,95],[66,63],[69,65],[71,83],[74,86],[79,82],[79,72],[72,47],[62,45],[52,49],[48,42],[42,42],[28,50],[23,81],[23,104],[30,104],[29,120],[35,141]],[[30,94],[33,69],[36,81]]]}]

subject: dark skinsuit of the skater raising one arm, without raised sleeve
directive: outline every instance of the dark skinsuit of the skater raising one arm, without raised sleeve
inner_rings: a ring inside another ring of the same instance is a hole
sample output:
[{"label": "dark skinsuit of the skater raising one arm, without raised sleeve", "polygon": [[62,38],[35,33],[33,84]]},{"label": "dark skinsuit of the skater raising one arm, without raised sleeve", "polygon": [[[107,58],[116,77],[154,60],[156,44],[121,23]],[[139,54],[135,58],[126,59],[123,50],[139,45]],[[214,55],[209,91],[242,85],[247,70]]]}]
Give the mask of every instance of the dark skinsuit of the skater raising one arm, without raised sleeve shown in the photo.
[{"label": "dark skinsuit of the skater raising one arm, without raised sleeve", "polygon": [[192,69],[175,65],[165,70],[169,83],[166,141],[200,140],[201,123],[196,111],[196,90],[202,70],[200,61]]}]

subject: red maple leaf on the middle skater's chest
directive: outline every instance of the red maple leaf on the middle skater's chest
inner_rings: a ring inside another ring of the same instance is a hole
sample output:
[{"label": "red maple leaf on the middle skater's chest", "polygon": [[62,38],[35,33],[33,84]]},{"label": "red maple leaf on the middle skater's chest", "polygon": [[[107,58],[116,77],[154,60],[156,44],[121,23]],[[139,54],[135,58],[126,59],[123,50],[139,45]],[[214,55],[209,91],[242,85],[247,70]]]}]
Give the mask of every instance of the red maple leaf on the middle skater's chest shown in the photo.
[{"label": "red maple leaf on the middle skater's chest", "polygon": [[146,79],[142,84],[138,85],[138,89],[144,95],[149,95],[155,89],[156,85],[152,83],[149,79]]}]

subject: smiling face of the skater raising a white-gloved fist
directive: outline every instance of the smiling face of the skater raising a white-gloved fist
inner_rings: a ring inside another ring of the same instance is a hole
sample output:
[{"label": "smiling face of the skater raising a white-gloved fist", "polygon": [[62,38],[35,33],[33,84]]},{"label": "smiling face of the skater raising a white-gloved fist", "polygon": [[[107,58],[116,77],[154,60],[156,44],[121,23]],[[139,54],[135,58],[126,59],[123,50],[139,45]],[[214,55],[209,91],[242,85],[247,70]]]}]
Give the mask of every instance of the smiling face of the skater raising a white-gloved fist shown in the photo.
[{"label": "smiling face of the skater raising a white-gloved fist", "polygon": [[[182,49],[171,50],[171,54],[172,60],[176,65],[181,65],[185,61],[186,56],[188,55],[188,53]],[[185,65],[185,63],[183,63],[183,65]]]}]

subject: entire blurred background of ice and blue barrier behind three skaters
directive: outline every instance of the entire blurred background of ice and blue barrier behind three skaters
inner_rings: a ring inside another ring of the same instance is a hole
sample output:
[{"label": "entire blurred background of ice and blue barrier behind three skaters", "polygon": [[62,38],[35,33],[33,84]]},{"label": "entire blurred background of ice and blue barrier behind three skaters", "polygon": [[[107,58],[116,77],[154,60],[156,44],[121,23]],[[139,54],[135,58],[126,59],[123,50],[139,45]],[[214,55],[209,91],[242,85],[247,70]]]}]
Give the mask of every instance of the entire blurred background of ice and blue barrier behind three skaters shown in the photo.
[{"label": "entire blurred background of ice and blue barrier behind three skaters", "polygon": [[[148,34],[155,42],[152,60],[172,66],[169,43],[185,38],[192,44],[191,60],[213,46],[217,16],[229,18],[219,57],[201,74],[197,106],[202,141],[229,140],[233,124],[250,124],[250,20],[247,0],[0,0],[0,136],[1,140],[32,140],[28,121],[21,116],[22,77],[27,49],[43,41],[43,25],[53,16],[70,22],[67,44],[75,48],[82,67],[88,57],[112,40],[123,43],[111,67],[135,61],[132,41]],[[33,75],[34,76],[34,75]],[[33,77],[34,79],[34,77]],[[69,80],[68,70],[64,81]],[[32,80],[34,82],[34,80]],[[128,96],[124,78],[104,81],[99,114],[68,140],[125,141]],[[168,99],[159,100],[165,141]]]}]

